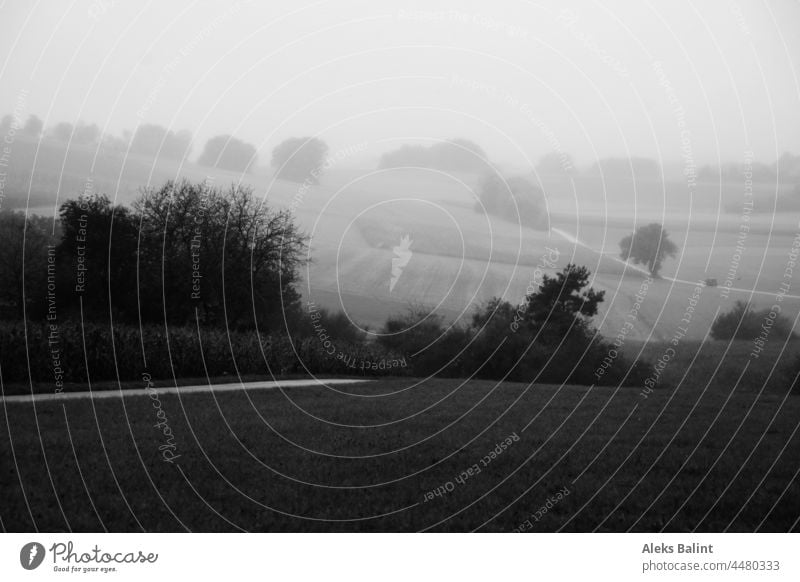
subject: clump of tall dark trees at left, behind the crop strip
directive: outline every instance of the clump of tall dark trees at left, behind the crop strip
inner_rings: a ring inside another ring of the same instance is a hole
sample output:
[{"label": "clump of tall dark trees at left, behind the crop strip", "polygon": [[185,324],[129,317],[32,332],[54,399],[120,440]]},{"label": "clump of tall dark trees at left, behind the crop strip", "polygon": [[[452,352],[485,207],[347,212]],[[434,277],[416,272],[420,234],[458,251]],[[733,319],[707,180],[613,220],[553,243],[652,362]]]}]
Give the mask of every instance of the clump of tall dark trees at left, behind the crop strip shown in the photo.
[{"label": "clump of tall dark trees at left, behind the crop strip", "polygon": [[2,212],[0,236],[0,294],[17,318],[47,315],[48,284],[59,317],[269,330],[298,309],[305,236],[247,186],[170,181],[132,208],[90,193],[55,222]]}]

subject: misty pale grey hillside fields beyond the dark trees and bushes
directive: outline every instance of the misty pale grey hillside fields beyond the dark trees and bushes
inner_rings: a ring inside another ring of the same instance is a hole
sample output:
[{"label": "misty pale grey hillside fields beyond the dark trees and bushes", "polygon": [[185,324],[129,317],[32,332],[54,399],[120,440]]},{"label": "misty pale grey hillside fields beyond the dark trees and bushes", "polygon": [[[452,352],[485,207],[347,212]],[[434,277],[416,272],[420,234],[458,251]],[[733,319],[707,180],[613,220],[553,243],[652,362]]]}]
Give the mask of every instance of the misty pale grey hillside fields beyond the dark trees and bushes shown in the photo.
[{"label": "misty pale grey hillside fields beyond the dark trees and bushes", "polygon": [[[493,296],[519,303],[542,274],[552,275],[573,262],[587,266],[594,274],[592,284],[606,292],[595,323],[613,337],[645,277],[639,267],[617,260],[618,242],[636,226],[657,221],[664,223],[680,250],[665,262],[664,279],[649,286],[629,337],[672,337],[695,282],[714,278],[733,290],[727,296],[721,287],[703,290],[688,326],[688,337],[702,340],[718,310],[730,309],[736,300],[751,301],[758,308],[774,303],[792,241],[800,234],[800,214],[758,214],[748,220],[750,230],[740,238],[741,214],[724,213],[726,207],[742,205],[741,185],[734,183],[700,183],[689,196],[685,184],[675,181],[581,177],[569,182],[540,177],[552,230],[533,230],[476,212],[480,176],[472,174],[334,166],[321,185],[303,187],[275,180],[265,168],[242,176],[191,162],[131,157],[121,164],[81,148],[67,153],[46,143],[37,155],[30,184],[10,178],[6,207],[19,205],[19,196],[24,200],[30,185],[30,208],[52,214],[55,204],[86,188],[89,176],[95,191],[124,204],[130,204],[143,186],[167,179],[252,185],[267,204],[292,209],[310,236],[312,261],[303,273],[304,298],[344,310],[373,331],[411,305],[435,308],[456,321],[469,318],[477,305]],[[25,171],[30,168],[17,169],[17,174]],[[757,186],[761,200],[782,193]],[[18,198],[12,198],[14,193]],[[410,239],[412,255],[390,289],[394,248],[403,237]],[[553,250],[559,257],[555,268],[543,262]],[[800,282],[790,283],[789,295],[794,297],[783,302],[782,313],[795,320]]]}]

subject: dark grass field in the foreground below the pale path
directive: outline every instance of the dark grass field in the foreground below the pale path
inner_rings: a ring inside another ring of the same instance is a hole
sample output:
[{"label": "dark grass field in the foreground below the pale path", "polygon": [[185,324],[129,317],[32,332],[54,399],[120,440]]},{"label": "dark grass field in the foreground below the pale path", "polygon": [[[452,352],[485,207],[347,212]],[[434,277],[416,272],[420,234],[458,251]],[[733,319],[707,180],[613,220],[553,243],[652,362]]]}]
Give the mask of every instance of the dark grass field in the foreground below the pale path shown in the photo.
[{"label": "dark grass field in the foreground below the pale path", "polygon": [[2,527],[798,529],[796,396],[408,378],[165,396],[173,463],[155,404],[7,405]]}]

